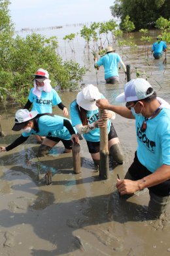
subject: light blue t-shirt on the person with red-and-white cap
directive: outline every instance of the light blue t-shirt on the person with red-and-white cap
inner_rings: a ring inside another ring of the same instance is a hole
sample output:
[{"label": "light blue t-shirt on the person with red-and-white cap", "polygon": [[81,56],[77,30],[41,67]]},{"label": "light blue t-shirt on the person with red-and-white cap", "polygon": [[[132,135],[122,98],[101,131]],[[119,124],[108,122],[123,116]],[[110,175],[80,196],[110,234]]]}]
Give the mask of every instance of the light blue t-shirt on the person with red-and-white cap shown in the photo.
[{"label": "light blue t-shirt on the person with red-and-white cap", "polygon": [[33,94],[33,88],[31,89],[28,99],[33,103],[32,110],[37,110],[39,114],[52,113],[52,106],[56,106],[61,102],[58,93],[52,89],[50,93],[42,91],[41,98],[38,98]]}]

